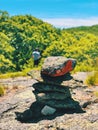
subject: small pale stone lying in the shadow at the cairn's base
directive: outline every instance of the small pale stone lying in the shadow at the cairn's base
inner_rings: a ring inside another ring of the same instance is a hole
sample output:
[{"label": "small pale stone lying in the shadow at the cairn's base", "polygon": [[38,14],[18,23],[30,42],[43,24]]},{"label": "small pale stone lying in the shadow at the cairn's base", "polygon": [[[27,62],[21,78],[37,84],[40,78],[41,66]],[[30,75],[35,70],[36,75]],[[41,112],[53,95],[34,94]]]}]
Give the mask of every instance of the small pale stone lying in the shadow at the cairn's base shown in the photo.
[{"label": "small pale stone lying in the shadow at the cairn's base", "polygon": [[41,114],[43,114],[43,115],[52,115],[52,114],[54,114],[55,113],[55,111],[56,111],[56,109],[55,108],[52,108],[52,107],[50,107],[50,106],[44,106],[44,108],[41,110]]}]

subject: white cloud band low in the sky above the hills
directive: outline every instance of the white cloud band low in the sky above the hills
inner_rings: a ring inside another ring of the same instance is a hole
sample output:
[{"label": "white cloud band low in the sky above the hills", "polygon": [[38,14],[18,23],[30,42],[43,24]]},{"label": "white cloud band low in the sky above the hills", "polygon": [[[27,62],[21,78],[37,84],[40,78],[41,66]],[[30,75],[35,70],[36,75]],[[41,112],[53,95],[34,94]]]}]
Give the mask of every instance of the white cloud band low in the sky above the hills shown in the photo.
[{"label": "white cloud band low in the sky above the hills", "polygon": [[50,18],[50,19],[43,19],[43,21],[48,22],[55,27],[69,28],[69,27],[77,27],[77,26],[91,26],[91,25],[98,24],[98,17],[84,18],[84,19]]}]

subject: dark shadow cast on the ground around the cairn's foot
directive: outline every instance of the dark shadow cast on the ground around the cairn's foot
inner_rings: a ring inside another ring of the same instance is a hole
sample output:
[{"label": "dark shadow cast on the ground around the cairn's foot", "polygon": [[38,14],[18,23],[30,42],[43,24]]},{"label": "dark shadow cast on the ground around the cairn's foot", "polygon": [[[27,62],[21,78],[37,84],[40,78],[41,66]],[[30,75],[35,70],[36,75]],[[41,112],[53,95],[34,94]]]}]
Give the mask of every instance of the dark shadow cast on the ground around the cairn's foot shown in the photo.
[{"label": "dark shadow cast on the ground around the cairn's foot", "polygon": [[21,123],[37,123],[41,120],[52,120],[64,114],[85,113],[77,101],[73,100],[73,102],[77,103],[75,109],[56,109],[56,112],[54,114],[45,116],[41,114],[41,110],[45,105],[36,101],[32,103],[30,108],[28,110],[25,110],[23,113],[15,112],[16,119]]}]

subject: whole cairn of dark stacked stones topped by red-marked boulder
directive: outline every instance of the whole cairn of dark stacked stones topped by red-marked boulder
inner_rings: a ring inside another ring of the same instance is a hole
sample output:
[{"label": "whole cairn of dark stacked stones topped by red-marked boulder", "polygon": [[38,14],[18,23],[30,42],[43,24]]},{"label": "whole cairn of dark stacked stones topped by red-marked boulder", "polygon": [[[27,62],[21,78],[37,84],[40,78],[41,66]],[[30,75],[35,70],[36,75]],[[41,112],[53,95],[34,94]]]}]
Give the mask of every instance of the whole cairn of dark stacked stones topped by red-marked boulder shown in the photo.
[{"label": "whole cairn of dark stacked stones topped by red-marked boulder", "polygon": [[[64,74],[73,70],[75,65],[76,60],[67,59],[62,56],[45,59],[41,70],[43,82],[33,84],[33,88],[35,89],[33,93],[35,94],[36,101],[45,105],[42,113],[44,110],[53,112],[57,109],[77,109],[79,103],[71,98],[69,86],[60,84]],[[46,82],[47,79],[48,83]],[[57,80],[60,83],[56,84]]]}]

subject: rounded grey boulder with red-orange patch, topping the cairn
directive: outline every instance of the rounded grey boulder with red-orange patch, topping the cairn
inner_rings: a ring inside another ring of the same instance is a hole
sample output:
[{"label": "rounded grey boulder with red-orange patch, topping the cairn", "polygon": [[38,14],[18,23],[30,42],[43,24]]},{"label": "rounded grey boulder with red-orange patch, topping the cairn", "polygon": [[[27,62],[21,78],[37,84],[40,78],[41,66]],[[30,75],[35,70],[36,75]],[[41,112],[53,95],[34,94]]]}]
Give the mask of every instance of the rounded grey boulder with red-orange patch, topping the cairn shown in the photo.
[{"label": "rounded grey boulder with red-orange patch, topping the cairn", "polygon": [[62,76],[72,71],[76,66],[76,60],[63,56],[50,56],[45,59],[41,74],[51,77]]}]

